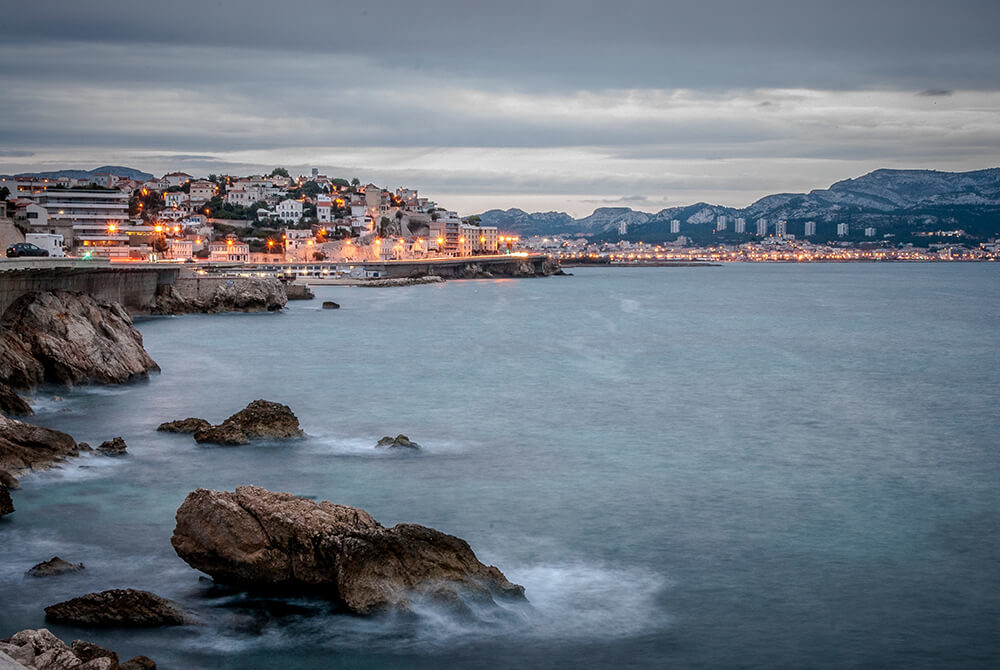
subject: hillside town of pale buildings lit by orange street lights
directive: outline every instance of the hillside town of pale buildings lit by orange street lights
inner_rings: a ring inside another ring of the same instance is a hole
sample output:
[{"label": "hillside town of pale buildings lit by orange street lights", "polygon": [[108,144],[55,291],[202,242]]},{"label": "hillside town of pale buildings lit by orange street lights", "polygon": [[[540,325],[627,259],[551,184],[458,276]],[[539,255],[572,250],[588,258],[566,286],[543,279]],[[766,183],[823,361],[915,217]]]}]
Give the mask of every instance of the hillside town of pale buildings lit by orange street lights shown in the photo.
[{"label": "hillside town of pale buildings lit by orange street lights", "polygon": [[[518,242],[478,217],[415,189],[331,179],[198,178],[171,172],[136,180],[98,173],[0,178],[6,217],[51,255],[111,261],[310,263],[509,254]],[[10,240],[4,240],[10,244]]]}]

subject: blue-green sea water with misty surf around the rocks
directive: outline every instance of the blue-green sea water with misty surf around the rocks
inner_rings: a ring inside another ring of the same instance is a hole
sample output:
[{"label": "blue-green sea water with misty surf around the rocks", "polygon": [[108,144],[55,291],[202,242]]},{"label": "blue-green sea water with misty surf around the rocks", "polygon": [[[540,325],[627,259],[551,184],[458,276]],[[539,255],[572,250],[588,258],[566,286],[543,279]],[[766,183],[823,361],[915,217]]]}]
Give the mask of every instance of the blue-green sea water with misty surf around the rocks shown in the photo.
[{"label": "blue-green sea water with misty surf around the rocks", "polygon": [[[33,398],[130,455],[24,478],[0,636],[134,587],[202,625],[52,628],[162,668],[1000,665],[1000,267],[575,272],[141,321],[162,374]],[[261,397],[309,437],[154,430]],[[425,450],[375,451],[400,432]],[[366,619],[213,590],[174,512],[248,483],[463,537],[531,604]],[[22,576],[55,554],[87,570]]]}]

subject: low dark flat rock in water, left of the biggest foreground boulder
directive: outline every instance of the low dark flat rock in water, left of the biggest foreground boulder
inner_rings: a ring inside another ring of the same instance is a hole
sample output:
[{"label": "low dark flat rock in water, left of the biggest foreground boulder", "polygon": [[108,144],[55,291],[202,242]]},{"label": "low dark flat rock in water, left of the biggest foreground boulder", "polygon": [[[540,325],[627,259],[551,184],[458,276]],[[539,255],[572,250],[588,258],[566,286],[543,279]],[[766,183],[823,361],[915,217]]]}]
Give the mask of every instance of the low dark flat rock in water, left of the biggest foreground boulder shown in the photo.
[{"label": "low dark flat rock in water, left of the biggest foreground boulder", "polygon": [[180,605],[149,591],[112,589],[45,608],[45,620],[83,626],[174,626],[188,622]]}]

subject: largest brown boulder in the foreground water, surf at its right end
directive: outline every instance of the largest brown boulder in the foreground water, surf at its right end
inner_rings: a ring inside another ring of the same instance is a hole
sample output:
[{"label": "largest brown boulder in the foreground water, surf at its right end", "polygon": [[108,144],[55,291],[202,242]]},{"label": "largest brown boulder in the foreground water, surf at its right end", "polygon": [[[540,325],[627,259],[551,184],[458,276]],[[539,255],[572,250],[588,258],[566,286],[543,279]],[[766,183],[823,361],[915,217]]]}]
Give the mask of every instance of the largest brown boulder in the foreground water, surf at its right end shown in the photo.
[{"label": "largest brown boulder in the foreground water, surf at its right end", "polygon": [[405,607],[413,593],[524,598],[460,538],[414,524],[384,528],[362,509],[255,486],[188,494],[171,543],[219,582],[324,592],[357,613]]}]

